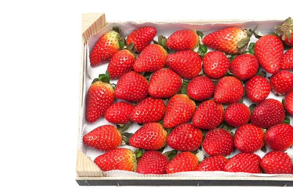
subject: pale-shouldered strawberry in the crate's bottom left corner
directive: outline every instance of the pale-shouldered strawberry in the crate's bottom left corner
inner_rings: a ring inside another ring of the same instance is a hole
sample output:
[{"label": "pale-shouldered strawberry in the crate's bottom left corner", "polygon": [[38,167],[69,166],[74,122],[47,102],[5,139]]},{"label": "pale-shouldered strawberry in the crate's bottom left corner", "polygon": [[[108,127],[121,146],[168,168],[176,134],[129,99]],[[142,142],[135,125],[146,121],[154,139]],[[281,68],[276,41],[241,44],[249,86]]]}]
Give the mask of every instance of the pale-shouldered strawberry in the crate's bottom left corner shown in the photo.
[{"label": "pale-shouldered strawberry in the crate's bottom left corner", "polygon": [[94,163],[102,171],[133,171],[136,167],[135,154],[127,148],[116,148],[95,158]]}]

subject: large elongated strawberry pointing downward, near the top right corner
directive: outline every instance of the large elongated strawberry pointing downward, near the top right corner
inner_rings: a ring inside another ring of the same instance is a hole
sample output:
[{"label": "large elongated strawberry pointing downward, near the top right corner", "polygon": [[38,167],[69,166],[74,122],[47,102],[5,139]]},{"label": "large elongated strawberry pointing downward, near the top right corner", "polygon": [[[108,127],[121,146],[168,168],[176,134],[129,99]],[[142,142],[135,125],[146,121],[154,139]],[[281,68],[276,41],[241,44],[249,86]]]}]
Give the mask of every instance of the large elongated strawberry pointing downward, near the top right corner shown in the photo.
[{"label": "large elongated strawberry pointing downward, near the top right corner", "polygon": [[284,46],[277,36],[265,35],[254,45],[254,56],[260,65],[271,74],[275,74],[281,67]]}]

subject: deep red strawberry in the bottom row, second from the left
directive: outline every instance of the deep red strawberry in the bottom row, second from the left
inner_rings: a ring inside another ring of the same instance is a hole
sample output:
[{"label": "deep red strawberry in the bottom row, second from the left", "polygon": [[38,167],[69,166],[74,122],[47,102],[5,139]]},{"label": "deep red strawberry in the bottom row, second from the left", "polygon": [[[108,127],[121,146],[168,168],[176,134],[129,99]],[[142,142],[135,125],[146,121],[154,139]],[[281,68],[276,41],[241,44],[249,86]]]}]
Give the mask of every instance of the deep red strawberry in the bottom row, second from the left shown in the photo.
[{"label": "deep red strawberry in the bottom row, second from the left", "polygon": [[146,151],[138,160],[139,174],[165,174],[169,160],[158,151]]}]

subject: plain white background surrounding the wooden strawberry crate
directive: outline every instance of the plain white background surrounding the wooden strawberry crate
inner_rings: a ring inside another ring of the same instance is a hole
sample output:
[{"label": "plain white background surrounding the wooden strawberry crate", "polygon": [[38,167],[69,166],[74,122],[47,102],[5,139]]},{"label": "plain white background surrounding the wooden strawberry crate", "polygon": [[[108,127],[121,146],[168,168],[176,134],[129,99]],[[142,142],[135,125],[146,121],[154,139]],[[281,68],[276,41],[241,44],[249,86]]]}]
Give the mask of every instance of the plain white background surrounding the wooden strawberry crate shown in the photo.
[{"label": "plain white background surrounding the wooden strawberry crate", "polygon": [[104,12],[106,20],[286,19],[292,7],[292,0],[1,3],[0,194],[292,193],[289,187],[80,187],[75,181],[82,13]]}]

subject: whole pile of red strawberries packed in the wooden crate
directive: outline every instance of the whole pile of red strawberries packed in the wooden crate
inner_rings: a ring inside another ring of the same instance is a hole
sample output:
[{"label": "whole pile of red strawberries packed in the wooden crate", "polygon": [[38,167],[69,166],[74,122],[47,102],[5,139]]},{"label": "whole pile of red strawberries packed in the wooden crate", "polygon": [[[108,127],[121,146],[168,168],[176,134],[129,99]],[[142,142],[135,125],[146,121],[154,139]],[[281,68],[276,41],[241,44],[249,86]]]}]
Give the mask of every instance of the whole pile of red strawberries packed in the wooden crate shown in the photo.
[{"label": "whole pile of red strawberries packed in the wooden crate", "polygon": [[[127,38],[114,27],[103,35],[90,64],[109,63],[87,91],[85,118],[94,123],[105,116],[115,126],[83,137],[85,145],[105,151],[94,159],[99,168],[293,174],[286,153],[293,146],[286,117],[293,115],[293,20],[268,35],[255,30],[179,30],[154,40],[151,26]],[[271,91],[283,102],[268,98]],[[126,132],[133,123],[140,128]],[[163,153],[165,147],[173,150]],[[257,155],[259,150],[266,154]]]}]

